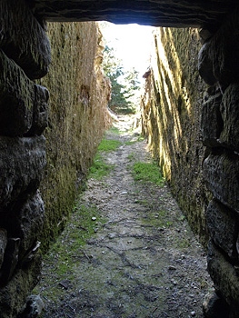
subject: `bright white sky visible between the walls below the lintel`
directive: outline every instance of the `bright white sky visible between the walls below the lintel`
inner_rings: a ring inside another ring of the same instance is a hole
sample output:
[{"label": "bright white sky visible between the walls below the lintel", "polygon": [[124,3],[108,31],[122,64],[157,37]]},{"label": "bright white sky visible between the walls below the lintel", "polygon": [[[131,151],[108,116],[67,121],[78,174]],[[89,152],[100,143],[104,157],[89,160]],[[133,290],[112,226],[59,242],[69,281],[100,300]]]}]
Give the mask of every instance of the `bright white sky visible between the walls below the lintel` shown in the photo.
[{"label": "bright white sky visible between the walls below the lintel", "polygon": [[123,61],[124,70],[134,67],[139,72],[141,80],[149,66],[154,27],[104,22],[101,30],[105,37],[105,45],[114,47],[115,55]]}]

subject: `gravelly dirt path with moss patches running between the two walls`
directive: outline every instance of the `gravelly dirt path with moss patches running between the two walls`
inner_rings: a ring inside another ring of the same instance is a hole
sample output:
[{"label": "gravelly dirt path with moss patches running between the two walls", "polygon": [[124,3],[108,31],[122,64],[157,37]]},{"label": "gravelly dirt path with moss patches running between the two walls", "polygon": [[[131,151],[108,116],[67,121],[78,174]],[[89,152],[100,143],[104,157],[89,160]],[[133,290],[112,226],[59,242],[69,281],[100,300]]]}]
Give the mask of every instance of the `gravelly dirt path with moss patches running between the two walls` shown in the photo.
[{"label": "gravelly dirt path with moss patches running between the two walls", "polygon": [[75,212],[45,259],[35,291],[42,317],[203,317],[205,253],[167,186],[134,182],[134,162],[152,159],[124,119],[118,124],[124,133],[107,138],[122,144],[105,154],[115,169],[90,179],[79,202],[92,209],[94,234],[78,247],[73,234],[86,229]]}]

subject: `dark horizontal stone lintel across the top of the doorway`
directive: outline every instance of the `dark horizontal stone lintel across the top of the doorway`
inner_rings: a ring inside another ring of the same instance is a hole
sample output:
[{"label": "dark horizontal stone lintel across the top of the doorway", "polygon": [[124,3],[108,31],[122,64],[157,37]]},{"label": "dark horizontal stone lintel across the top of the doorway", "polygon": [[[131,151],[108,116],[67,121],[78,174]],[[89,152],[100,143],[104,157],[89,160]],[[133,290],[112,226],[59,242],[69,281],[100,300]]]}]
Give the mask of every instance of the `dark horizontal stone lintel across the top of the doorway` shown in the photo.
[{"label": "dark horizontal stone lintel across the top of the doorway", "polygon": [[238,0],[26,0],[47,21],[110,21],[115,24],[219,26]]}]

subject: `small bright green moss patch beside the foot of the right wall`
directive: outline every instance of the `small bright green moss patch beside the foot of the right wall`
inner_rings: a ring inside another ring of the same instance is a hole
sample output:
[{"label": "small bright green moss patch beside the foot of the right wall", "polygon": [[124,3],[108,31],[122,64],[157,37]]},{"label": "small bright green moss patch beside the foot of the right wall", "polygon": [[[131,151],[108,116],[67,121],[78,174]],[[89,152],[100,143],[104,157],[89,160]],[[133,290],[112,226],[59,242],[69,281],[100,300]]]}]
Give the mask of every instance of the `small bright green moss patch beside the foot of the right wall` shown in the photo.
[{"label": "small bright green moss patch beside the foot of the right wall", "polygon": [[155,163],[135,163],[133,165],[133,176],[135,181],[151,182],[157,185],[164,184],[164,177]]}]

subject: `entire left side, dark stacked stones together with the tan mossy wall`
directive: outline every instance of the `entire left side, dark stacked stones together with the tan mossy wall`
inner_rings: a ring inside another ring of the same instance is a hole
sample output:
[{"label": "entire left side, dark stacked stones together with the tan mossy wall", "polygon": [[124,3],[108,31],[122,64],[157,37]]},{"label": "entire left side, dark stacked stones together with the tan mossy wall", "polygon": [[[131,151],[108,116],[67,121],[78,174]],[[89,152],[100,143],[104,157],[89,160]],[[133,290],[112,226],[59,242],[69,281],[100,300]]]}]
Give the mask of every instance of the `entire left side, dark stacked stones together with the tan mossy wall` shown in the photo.
[{"label": "entire left side, dark stacked stones together with the tan mossy wall", "polygon": [[40,241],[62,228],[108,124],[109,84],[95,23],[49,25],[50,67],[45,24],[25,0],[1,1],[0,15],[0,316],[11,318],[39,280]]}]

